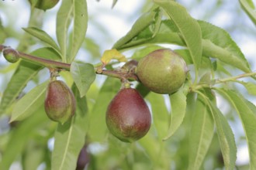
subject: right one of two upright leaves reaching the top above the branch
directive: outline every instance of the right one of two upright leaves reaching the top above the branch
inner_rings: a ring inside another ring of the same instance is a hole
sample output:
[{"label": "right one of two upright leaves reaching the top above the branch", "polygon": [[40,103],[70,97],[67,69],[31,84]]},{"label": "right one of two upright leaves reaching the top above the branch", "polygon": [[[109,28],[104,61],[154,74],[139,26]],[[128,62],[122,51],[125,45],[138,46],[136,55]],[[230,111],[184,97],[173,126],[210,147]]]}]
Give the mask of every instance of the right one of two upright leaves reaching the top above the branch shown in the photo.
[{"label": "right one of two upright leaves reaching the top above the branch", "polygon": [[74,60],[74,57],[78,53],[78,49],[81,47],[81,44],[85,39],[87,24],[88,12],[86,1],[74,0],[74,29],[71,43],[71,59],[69,59],[69,62],[72,62]]}]

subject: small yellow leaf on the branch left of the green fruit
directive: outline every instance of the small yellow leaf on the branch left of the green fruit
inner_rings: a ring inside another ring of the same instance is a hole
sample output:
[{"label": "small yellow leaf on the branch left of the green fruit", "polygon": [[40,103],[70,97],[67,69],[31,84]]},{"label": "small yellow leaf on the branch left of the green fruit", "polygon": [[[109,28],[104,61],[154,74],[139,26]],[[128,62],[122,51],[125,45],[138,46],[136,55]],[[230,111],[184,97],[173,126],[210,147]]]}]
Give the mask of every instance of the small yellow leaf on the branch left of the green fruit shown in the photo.
[{"label": "small yellow leaf on the branch left of the green fruit", "polygon": [[108,49],[102,55],[102,63],[107,64],[111,61],[111,59],[117,59],[119,62],[126,62],[126,56],[119,53],[116,49]]}]

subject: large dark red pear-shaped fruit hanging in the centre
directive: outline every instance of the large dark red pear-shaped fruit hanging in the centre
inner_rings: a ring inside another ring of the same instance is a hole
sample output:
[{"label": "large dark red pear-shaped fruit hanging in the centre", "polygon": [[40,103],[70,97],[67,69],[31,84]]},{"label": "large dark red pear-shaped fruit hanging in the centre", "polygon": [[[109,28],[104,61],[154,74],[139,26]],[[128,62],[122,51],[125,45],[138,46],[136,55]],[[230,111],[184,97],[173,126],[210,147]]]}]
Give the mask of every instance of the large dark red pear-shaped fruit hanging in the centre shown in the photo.
[{"label": "large dark red pear-shaped fruit hanging in the centre", "polygon": [[109,104],[106,124],[109,131],[119,140],[137,141],[150,129],[150,110],[137,90],[123,88]]}]

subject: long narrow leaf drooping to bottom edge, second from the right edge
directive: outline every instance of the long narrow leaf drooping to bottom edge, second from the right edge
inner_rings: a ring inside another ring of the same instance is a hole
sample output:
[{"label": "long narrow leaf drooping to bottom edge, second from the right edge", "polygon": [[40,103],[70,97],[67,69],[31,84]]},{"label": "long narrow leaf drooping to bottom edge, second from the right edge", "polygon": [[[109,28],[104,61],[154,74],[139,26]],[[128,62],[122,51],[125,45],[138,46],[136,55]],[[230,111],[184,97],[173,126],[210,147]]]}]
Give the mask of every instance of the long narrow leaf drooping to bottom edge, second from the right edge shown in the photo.
[{"label": "long narrow leaf drooping to bottom edge, second from the right edge", "polygon": [[216,131],[220,142],[220,149],[223,155],[225,169],[233,170],[237,159],[237,147],[233,131],[230,128],[230,124],[228,124],[227,119],[216,107],[216,104],[209,102],[208,105],[216,124]]}]

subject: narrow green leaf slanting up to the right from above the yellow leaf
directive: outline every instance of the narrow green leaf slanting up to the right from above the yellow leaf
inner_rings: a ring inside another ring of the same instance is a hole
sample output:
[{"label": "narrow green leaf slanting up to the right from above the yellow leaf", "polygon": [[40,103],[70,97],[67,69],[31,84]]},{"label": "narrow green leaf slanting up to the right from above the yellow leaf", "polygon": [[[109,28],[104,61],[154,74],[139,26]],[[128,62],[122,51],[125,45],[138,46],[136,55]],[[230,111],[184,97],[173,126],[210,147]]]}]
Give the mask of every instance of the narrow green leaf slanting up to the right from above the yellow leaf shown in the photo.
[{"label": "narrow green leaf slanting up to the right from above the yellow leaf", "polygon": [[119,39],[114,46],[112,46],[112,49],[122,49],[123,45],[125,45],[127,42],[130,42],[131,39],[133,39],[135,36],[137,36],[141,31],[147,28],[153,21],[154,17],[157,14],[155,11],[150,11],[147,13],[144,13],[140,16],[139,19],[133,24],[133,27],[130,29],[129,32],[127,32],[126,36]]}]

